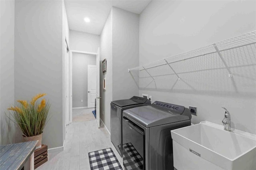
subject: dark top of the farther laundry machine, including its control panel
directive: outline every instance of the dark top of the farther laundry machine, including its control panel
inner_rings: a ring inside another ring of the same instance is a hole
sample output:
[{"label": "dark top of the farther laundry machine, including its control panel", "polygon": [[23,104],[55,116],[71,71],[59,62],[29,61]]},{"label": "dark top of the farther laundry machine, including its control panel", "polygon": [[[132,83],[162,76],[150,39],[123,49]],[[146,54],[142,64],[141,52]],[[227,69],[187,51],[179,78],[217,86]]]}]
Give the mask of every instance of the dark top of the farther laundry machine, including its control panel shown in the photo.
[{"label": "dark top of the farther laundry machine, including its control panel", "polygon": [[130,106],[130,105],[139,105],[139,104],[144,104],[144,103],[148,104],[148,101],[149,100],[146,98],[134,96],[130,99],[116,100],[116,101],[112,101],[111,103],[113,103],[114,105],[117,105],[119,107],[126,107],[126,106]]}]

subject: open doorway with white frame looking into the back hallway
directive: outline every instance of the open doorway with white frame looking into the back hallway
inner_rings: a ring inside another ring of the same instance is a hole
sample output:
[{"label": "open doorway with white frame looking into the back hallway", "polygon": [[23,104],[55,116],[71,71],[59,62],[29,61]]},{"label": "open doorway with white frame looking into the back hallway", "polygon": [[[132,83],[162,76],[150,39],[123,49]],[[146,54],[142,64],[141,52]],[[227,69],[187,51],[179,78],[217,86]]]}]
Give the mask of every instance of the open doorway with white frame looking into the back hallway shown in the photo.
[{"label": "open doorway with white frame looking into the back hallway", "polygon": [[[99,49],[97,53],[70,50],[69,116],[72,121],[73,118],[75,119],[74,121],[78,121],[78,119],[91,120],[94,115],[92,111],[95,108],[100,113],[100,102],[96,102],[96,98],[100,99],[100,92],[97,89],[97,87],[100,87],[99,57]],[[86,117],[86,114],[88,114],[88,117]],[[95,117],[98,127],[100,127],[100,114],[95,114]]]}]

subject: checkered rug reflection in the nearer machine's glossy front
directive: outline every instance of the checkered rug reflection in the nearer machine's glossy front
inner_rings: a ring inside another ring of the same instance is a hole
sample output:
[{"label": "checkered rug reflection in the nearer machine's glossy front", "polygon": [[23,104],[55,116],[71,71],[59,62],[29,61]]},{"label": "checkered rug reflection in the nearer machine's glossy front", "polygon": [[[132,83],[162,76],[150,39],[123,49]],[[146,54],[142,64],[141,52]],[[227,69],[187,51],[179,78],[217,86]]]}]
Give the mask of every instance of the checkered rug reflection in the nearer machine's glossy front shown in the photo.
[{"label": "checkered rug reflection in the nearer machine's glossy front", "polygon": [[123,144],[123,164],[127,170],[142,170],[143,158],[131,143]]}]

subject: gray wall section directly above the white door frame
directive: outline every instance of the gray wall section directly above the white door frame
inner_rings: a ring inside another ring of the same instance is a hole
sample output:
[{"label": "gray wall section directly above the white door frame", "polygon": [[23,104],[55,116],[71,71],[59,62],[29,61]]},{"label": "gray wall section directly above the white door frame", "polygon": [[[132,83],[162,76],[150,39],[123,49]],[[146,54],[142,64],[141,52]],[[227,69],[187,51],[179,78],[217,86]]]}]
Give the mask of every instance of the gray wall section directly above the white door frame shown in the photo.
[{"label": "gray wall section directly above the white door frame", "polygon": [[97,53],[100,36],[70,30],[70,49]]}]

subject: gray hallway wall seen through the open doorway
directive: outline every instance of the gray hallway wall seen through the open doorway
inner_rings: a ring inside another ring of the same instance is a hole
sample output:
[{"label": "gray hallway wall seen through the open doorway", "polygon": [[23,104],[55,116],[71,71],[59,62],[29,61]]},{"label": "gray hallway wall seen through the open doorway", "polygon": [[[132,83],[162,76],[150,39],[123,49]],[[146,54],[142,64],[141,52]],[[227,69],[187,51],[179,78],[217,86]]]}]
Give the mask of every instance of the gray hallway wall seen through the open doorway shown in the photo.
[{"label": "gray hallway wall seen through the open doorway", "polygon": [[87,107],[88,65],[96,65],[96,56],[73,53],[72,62],[72,107]]}]

